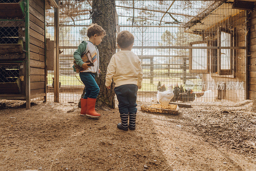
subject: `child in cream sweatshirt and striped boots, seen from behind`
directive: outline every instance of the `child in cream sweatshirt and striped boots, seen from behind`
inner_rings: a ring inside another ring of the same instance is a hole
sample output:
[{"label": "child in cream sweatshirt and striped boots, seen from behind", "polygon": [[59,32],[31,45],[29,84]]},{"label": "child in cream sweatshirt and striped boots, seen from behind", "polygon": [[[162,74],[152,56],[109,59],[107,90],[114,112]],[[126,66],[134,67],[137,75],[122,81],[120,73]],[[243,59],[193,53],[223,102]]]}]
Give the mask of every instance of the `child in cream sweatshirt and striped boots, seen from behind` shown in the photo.
[{"label": "child in cream sweatshirt and striped boots, seen from behind", "polygon": [[[141,89],[142,68],[140,59],[131,50],[134,36],[129,31],[122,31],[116,38],[117,46],[121,51],[112,56],[108,64],[106,75],[106,87],[110,89],[112,78],[115,82],[115,93],[118,100],[118,108],[121,123],[117,128],[127,131],[135,129],[137,113],[137,91]],[[128,125],[129,117],[129,125]]]}]

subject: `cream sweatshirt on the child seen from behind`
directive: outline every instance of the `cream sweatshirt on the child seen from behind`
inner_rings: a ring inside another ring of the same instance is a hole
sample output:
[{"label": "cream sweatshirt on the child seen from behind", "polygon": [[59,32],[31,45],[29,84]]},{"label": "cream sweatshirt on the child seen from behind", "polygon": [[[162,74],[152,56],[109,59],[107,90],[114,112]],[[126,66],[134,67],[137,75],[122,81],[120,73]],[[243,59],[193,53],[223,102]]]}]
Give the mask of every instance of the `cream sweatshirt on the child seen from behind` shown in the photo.
[{"label": "cream sweatshirt on the child seen from behind", "polygon": [[110,86],[113,78],[116,83],[115,87],[124,84],[141,86],[142,77],[139,57],[132,51],[119,51],[110,59],[105,85]]}]

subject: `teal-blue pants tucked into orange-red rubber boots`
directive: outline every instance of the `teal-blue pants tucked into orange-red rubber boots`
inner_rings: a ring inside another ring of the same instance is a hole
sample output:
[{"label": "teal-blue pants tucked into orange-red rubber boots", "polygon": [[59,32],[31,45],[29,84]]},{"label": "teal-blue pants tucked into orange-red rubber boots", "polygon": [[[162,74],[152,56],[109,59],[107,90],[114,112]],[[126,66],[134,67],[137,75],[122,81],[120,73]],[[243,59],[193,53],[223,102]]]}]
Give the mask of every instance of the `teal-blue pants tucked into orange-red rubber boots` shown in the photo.
[{"label": "teal-blue pants tucked into orange-red rubber boots", "polygon": [[95,75],[90,72],[81,72],[79,76],[85,86],[84,98],[97,98],[100,88],[95,81]]}]

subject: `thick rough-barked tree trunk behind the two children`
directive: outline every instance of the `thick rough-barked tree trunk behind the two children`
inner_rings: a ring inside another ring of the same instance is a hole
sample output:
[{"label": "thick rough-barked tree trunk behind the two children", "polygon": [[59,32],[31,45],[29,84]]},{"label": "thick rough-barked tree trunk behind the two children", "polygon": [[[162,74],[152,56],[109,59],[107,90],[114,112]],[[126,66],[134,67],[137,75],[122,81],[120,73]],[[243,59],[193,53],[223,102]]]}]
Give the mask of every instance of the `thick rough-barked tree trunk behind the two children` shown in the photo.
[{"label": "thick rough-barked tree trunk behind the two children", "polygon": [[115,0],[93,0],[92,10],[96,9],[92,15],[92,22],[99,24],[106,31],[106,36],[97,46],[100,55],[100,76],[96,82],[100,87],[100,93],[97,97],[96,106],[108,106],[115,108],[114,83],[111,89],[105,86],[105,78],[110,58],[116,53],[116,4]]}]

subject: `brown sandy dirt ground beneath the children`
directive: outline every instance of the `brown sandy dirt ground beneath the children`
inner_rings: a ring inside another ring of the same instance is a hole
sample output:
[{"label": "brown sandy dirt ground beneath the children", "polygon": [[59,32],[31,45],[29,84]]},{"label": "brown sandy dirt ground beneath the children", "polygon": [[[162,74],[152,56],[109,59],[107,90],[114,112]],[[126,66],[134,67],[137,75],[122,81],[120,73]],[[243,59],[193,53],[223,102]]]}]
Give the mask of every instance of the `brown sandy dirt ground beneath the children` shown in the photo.
[{"label": "brown sandy dirt ground beneath the children", "polygon": [[134,131],[116,128],[117,107],[98,109],[100,119],[91,119],[80,116],[75,103],[25,106],[0,101],[1,171],[256,171],[253,101],[193,103],[179,115],[138,107]]}]

